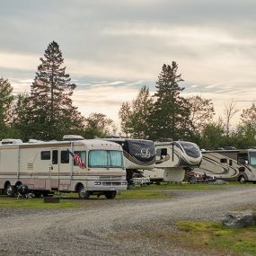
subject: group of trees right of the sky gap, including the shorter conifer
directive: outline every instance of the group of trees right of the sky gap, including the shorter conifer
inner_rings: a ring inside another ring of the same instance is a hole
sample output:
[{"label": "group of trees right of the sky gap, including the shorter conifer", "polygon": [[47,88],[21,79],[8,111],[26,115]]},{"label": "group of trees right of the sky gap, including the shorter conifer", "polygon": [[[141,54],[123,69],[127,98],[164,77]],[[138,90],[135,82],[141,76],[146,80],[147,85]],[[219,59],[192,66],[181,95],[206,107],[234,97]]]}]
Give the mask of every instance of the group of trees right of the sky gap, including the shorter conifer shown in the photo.
[{"label": "group of trees right of the sky gap, including the shorter conifer", "polygon": [[135,138],[189,140],[207,150],[256,146],[255,102],[242,111],[239,124],[232,129],[232,120],[238,112],[234,101],[225,104],[224,118],[215,121],[212,100],[200,95],[182,97],[185,88],[180,86],[181,82],[178,64],[174,61],[172,65],[164,64],[154,95],[150,95],[145,85],[135,100],[122,104],[119,110],[122,132]]}]

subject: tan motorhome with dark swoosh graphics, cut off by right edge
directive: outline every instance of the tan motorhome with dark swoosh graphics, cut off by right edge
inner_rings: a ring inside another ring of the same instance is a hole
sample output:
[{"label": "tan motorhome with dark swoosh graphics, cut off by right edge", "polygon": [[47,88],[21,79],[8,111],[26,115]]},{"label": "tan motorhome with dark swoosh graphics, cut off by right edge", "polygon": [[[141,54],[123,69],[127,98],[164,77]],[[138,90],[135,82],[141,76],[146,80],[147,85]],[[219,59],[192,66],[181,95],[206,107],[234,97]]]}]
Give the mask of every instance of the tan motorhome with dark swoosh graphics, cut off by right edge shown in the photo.
[{"label": "tan motorhome with dark swoosh graphics, cut off by right edge", "polygon": [[213,174],[227,181],[256,181],[256,149],[203,151],[195,172]]}]

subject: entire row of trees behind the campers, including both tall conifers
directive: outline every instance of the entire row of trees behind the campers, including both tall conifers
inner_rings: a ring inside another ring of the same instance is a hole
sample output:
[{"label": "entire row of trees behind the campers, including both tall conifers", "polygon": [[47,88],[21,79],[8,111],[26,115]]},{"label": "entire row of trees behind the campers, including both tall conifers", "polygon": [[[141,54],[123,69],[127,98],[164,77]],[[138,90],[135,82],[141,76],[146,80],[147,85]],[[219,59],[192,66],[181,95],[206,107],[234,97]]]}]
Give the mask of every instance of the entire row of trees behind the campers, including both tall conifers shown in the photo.
[{"label": "entire row of trees behind the campers, including both tall conifers", "polygon": [[[178,64],[164,64],[151,95],[145,85],[137,98],[123,102],[119,119],[123,137],[158,140],[189,140],[201,148],[256,146],[256,105],[242,111],[237,128],[231,123],[238,110],[233,101],[225,104],[224,118],[214,120],[210,99],[200,95],[182,97],[183,79]],[[76,84],[66,74],[57,42],[49,43],[37,68],[30,93],[13,94],[7,79],[0,78],[0,139],[13,137],[28,141],[61,139],[65,134],[85,138],[106,137],[117,132],[112,119],[102,113],[85,118],[71,99]]]}]

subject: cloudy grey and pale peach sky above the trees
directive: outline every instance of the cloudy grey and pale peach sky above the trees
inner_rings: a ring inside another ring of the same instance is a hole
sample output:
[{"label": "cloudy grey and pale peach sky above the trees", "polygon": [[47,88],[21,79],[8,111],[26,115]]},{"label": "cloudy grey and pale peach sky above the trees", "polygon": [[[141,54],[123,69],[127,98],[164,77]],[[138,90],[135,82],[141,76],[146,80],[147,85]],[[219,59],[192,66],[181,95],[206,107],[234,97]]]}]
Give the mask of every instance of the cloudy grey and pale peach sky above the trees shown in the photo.
[{"label": "cloudy grey and pale peach sky above the trees", "polygon": [[231,100],[242,110],[256,99],[255,10],[254,0],[1,1],[0,76],[29,92],[56,40],[85,116],[118,120],[121,103],[145,84],[154,93],[172,61],[184,96],[212,99],[217,115]]}]

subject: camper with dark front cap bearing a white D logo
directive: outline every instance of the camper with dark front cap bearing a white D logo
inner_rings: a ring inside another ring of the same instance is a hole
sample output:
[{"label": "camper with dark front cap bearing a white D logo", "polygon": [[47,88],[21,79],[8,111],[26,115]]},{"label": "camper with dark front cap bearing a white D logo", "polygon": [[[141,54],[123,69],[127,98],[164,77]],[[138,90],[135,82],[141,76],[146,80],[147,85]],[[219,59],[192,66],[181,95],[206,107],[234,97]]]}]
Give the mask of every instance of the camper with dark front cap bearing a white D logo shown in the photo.
[{"label": "camper with dark front cap bearing a white D logo", "polygon": [[125,167],[127,170],[127,180],[132,179],[132,175],[137,170],[153,169],[155,163],[154,142],[145,139],[132,138],[104,138],[122,146],[125,156]]}]

